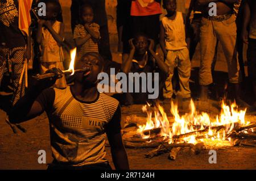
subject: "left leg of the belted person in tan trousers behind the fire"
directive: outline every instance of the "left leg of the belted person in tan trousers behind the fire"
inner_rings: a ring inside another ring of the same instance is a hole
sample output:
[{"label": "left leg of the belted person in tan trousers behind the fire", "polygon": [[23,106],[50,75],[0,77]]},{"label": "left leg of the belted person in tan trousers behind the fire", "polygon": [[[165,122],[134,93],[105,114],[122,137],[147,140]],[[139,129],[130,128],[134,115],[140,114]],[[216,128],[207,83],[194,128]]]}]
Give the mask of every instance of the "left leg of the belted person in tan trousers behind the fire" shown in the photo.
[{"label": "left leg of the belted person in tan trousers behind the fire", "polygon": [[208,86],[213,82],[212,61],[216,47],[216,35],[213,30],[212,21],[202,18],[200,28],[200,100],[207,101]]}]

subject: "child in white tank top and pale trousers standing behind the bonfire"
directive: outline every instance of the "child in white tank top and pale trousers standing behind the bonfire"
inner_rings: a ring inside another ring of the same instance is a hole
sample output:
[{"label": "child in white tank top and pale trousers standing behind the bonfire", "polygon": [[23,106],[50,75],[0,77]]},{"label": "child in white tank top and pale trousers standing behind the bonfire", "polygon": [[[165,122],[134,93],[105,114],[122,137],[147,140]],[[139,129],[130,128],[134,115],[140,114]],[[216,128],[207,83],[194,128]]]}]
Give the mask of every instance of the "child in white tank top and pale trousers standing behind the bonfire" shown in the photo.
[{"label": "child in white tank top and pale trousers standing behind the bonfire", "polygon": [[189,77],[191,73],[191,62],[189,51],[185,41],[185,25],[182,12],[176,11],[176,0],[164,0],[163,8],[167,15],[160,22],[160,46],[163,50],[166,64],[169,66],[169,75],[163,91],[164,98],[172,98],[172,77],[174,68],[179,73],[180,95],[183,99],[191,98],[189,89]]}]

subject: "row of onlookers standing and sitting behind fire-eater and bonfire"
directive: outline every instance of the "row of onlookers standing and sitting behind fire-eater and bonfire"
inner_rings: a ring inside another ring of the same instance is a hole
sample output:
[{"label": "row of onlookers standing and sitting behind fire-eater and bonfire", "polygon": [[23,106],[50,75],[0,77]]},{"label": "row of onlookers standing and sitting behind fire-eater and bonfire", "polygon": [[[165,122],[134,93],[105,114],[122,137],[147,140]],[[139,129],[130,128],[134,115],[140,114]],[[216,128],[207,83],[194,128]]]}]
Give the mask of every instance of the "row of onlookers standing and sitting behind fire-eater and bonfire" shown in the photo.
[{"label": "row of onlookers standing and sitting behind fire-eater and bonfire", "polygon": [[[34,6],[39,2],[36,1]],[[34,49],[35,52],[39,52],[35,53],[35,60],[39,64],[40,73],[45,73],[51,68],[64,69],[63,47],[65,47],[60,3],[57,0],[43,2],[46,2],[47,14],[35,21],[34,26],[36,28],[31,28],[32,37],[34,32],[34,45],[38,47]],[[209,2],[216,2],[216,16],[209,15]],[[249,8],[247,6],[250,3],[252,5]],[[184,6],[185,1],[183,0],[117,1],[118,49],[122,52],[122,65],[118,65],[113,63],[110,52],[105,1],[73,0],[71,5],[71,27],[73,40],[77,47],[77,60],[80,60],[86,53],[97,52],[101,54],[106,62],[105,71],[114,67],[126,74],[129,72],[159,72],[159,99],[161,100],[174,97],[175,87],[172,87],[172,78],[176,77],[179,80],[179,91],[177,93],[175,91],[175,95],[180,95],[184,100],[188,100],[191,98],[189,89],[190,62],[195,54],[197,44],[200,42],[200,103],[202,106],[207,106],[209,85],[213,83],[213,62],[216,59],[216,49],[220,47],[218,46],[220,44],[228,65],[229,87],[233,90],[234,95],[232,99],[236,99],[237,104],[242,107],[250,107],[240,98],[240,83],[242,77],[244,77],[243,62],[240,61],[240,57],[243,57],[241,44],[248,44],[246,37],[249,30],[247,59],[249,77],[253,82],[255,94],[255,75],[253,71],[255,68],[253,55],[255,22],[253,18],[250,18],[254,17],[254,2],[192,0],[187,14]],[[164,10],[167,14],[163,16]],[[248,12],[251,13],[248,15]],[[240,17],[237,18],[238,14],[240,14]],[[163,17],[160,18],[160,16]],[[240,23],[238,23],[239,19]],[[11,27],[7,26],[6,22],[2,22],[2,24],[3,32],[6,32],[6,37],[10,36],[10,39],[6,41],[2,38],[1,40],[2,44],[9,49],[9,52],[7,52],[9,56],[1,64],[0,75],[3,77],[2,75],[7,70],[5,68],[8,65],[14,89],[12,102],[15,104],[24,95],[24,81],[20,81],[19,75],[23,69],[24,58],[29,59],[31,57],[31,38],[30,36],[24,38],[18,30],[17,22],[13,22]],[[237,28],[237,26],[239,27]],[[7,31],[7,28],[11,31]],[[142,37],[147,40],[138,41]],[[14,41],[14,38],[17,39]],[[17,43],[14,44],[14,42]],[[155,53],[158,44],[162,49],[163,58]],[[26,50],[24,50],[25,48]],[[15,54],[12,52],[15,52]],[[14,70],[11,70],[11,62],[15,65]],[[166,72],[167,69],[168,73]],[[177,71],[175,71],[176,69]],[[67,87],[65,77],[58,79],[55,87]],[[122,99],[122,104],[126,105],[141,104],[148,101],[142,93],[127,93],[118,97]]]}]

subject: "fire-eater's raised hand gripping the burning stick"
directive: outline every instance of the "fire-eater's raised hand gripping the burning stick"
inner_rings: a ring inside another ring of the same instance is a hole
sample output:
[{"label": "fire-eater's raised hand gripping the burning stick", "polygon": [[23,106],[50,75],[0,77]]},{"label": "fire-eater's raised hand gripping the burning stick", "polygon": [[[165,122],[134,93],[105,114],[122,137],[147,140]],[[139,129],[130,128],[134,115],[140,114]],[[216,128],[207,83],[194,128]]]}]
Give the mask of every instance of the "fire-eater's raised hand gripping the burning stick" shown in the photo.
[{"label": "fire-eater's raised hand gripping the burning stick", "polygon": [[63,77],[62,71],[60,69],[57,69],[57,68],[49,69],[44,74],[47,74],[47,73],[53,73],[54,76],[44,78],[44,79],[39,79],[39,80],[36,81],[35,86],[40,91],[43,91],[44,89],[52,87],[55,84],[55,82],[57,81],[57,79]]}]

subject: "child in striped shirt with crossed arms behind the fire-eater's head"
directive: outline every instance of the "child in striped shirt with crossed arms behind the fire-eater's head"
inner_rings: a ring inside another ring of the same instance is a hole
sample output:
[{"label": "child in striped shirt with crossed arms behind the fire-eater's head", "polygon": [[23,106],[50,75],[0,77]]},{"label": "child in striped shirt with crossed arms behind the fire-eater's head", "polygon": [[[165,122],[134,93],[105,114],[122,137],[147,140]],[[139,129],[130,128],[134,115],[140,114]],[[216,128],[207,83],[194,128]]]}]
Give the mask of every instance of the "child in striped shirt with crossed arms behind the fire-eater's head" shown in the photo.
[{"label": "child in striped shirt with crossed arms behind the fire-eater's head", "polygon": [[93,9],[89,5],[82,5],[80,10],[82,24],[77,24],[74,30],[74,39],[78,49],[77,58],[88,52],[98,53],[100,26],[93,23]]}]

